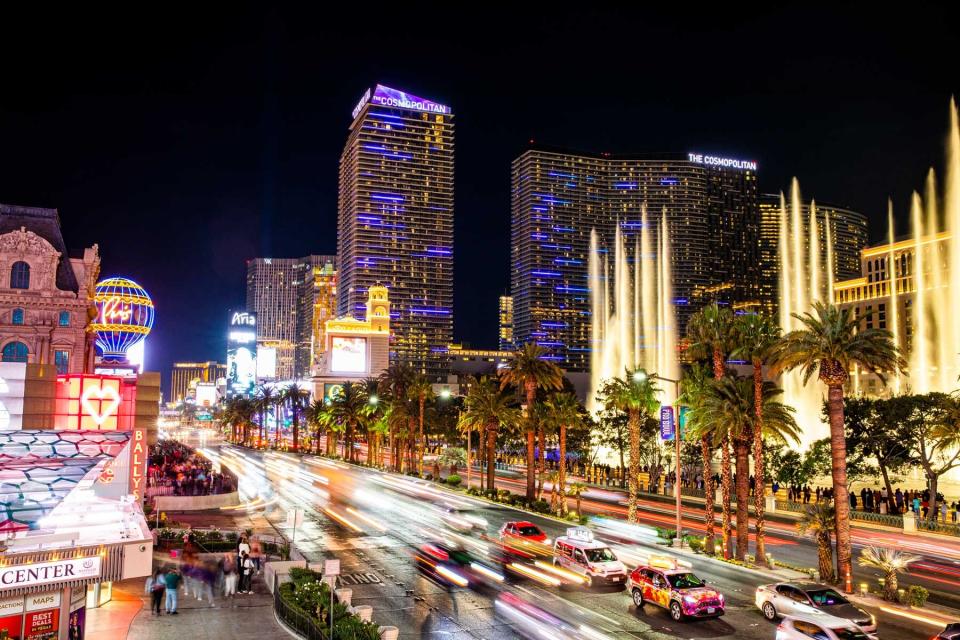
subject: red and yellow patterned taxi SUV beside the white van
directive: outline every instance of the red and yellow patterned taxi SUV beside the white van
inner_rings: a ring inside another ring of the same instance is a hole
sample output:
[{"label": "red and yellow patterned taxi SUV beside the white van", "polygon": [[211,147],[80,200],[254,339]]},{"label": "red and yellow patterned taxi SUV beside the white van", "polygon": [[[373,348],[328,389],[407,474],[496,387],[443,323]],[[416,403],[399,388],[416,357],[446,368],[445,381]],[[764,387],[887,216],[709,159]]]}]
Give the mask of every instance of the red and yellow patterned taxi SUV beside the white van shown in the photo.
[{"label": "red and yellow patterned taxi SUV beside the white van", "polygon": [[630,574],[627,588],[638,609],[647,603],[663,607],[676,622],[726,613],[723,594],[670,557],[650,556]]}]

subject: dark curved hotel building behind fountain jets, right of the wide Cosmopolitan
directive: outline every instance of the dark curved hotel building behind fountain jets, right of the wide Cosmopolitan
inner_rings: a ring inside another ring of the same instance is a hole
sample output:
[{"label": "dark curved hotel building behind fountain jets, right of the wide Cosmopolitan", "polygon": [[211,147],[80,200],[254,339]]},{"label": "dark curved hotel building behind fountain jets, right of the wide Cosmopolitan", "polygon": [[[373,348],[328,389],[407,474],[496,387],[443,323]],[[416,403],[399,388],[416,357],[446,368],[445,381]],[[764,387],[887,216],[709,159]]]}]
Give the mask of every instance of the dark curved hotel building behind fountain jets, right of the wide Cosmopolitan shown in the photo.
[{"label": "dark curved hotel building behind fountain jets, right of the wide Cosmopolitan", "polygon": [[[764,311],[777,317],[777,290],[780,282],[780,259],[777,245],[780,238],[780,194],[760,195],[760,301]],[[789,211],[790,203],[786,203]],[[827,247],[833,246],[833,279],[835,282],[860,276],[861,252],[867,246],[867,217],[847,207],[815,201],[817,232],[820,236],[820,264],[827,264]],[[803,251],[810,242],[810,201],[800,206],[803,226]],[[830,221],[830,242],[826,222]]]}]

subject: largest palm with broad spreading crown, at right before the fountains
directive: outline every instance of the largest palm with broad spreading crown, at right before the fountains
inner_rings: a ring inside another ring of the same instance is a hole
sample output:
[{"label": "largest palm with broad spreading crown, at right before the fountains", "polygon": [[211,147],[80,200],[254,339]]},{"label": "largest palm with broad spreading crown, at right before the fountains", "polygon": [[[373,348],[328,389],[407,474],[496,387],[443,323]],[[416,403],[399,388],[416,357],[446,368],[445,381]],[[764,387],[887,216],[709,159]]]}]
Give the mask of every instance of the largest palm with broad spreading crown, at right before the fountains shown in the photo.
[{"label": "largest palm with broad spreading crown, at right before the fountains", "polygon": [[847,443],[843,428],[843,385],[859,366],[886,383],[886,373],[906,366],[886,329],[859,329],[850,309],[816,302],[813,313],[794,314],[803,328],[791,331],[774,348],[776,371],[799,369],[806,384],[814,374],[827,387],[833,496],[837,524],[837,580],[853,589],[850,500],[847,493]]}]

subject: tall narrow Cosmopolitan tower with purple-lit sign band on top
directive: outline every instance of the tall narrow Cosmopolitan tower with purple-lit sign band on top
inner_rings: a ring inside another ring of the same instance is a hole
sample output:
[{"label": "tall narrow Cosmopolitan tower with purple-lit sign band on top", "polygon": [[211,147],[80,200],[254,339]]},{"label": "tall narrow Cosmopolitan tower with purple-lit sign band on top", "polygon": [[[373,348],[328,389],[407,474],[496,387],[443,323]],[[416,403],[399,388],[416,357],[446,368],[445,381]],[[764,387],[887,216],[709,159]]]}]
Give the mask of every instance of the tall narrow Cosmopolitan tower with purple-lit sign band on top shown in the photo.
[{"label": "tall narrow Cosmopolitan tower with purple-lit sign band on top", "polygon": [[391,362],[444,375],[453,338],[453,113],[377,85],[353,110],[340,157],[339,315],[364,319],[390,290]]}]

